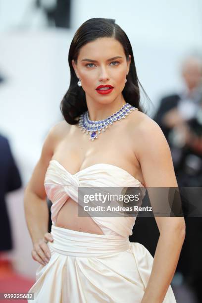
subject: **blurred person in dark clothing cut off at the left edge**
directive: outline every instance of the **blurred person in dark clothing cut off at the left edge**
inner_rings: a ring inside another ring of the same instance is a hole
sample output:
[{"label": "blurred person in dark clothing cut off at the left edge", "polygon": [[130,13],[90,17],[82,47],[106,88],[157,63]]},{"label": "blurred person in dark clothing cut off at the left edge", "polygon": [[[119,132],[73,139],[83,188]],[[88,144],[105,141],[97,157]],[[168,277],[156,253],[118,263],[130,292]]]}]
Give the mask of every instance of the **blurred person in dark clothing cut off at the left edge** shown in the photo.
[{"label": "blurred person in dark clothing cut off at the left edge", "polygon": [[22,186],[8,140],[0,135],[0,255],[13,248],[5,194]]}]

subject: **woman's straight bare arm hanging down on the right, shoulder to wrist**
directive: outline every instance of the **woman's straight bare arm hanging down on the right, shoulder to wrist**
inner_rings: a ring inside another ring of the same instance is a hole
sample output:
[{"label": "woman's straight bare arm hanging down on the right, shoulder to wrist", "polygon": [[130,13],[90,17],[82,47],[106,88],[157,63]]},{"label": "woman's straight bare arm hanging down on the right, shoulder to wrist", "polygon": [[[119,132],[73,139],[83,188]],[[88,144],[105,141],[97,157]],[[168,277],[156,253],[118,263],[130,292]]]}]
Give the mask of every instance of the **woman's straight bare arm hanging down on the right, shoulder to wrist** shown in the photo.
[{"label": "woman's straight bare arm hanging down on the right, shoulder to wrist", "polygon": [[[144,120],[136,130],[136,156],[145,185],[147,188],[178,188],[168,143],[156,122],[150,118]],[[185,239],[184,217],[164,216],[155,217],[155,220],[160,236],[151,276],[141,303],[163,302]]]}]

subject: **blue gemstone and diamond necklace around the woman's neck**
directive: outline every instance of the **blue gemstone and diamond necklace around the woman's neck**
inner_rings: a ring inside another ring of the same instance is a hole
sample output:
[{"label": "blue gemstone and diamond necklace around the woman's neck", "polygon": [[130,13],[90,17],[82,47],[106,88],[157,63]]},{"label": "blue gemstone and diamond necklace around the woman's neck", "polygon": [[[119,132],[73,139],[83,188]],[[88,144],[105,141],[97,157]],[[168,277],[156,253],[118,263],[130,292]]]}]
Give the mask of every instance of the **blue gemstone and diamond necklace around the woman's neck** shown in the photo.
[{"label": "blue gemstone and diamond necklace around the woman's neck", "polygon": [[98,138],[98,134],[101,134],[101,131],[105,131],[105,128],[107,128],[108,125],[112,125],[113,122],[124,119],[130,112],[132,112],[132,110],[135,109],[138,110],[137,107],[132,106],[126,102],[117,112],[111,116],[108,116],[106,119],[98,121],[90,120],[87,110],[80,115],[78,124],[79,127],[81,127],[81,131],[83,131],[83,133],[86,133],[87,135],[90,133],[89,140],[94,141],[94,139]]}]

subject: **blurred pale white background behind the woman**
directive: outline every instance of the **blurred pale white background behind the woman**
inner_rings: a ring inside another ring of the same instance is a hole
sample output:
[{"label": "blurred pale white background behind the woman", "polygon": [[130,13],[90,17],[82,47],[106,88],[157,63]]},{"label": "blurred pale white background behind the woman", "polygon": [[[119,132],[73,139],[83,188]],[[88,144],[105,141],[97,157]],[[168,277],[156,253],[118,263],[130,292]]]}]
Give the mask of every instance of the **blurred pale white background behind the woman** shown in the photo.
[{"label": "blurred pale white background behind the woman", "polygon": [[[72,2],[70,31],[46,28],[42,15],[33,19],[30,15],[28,29],[16,29],[24,22],[20,9],[25,9],[28,1],[21,1],[21,7],[15,0],[0,4],[0,19],[1,14],[4,16],[0,23],[0,73],[6,78],[0,85],[0,132],[10,140],[24,186],[50,126],[62,119],[59,102],[69,85],[68,49],[74,32],[85,20],[113,18],[125,30],[139,79],[155,106],[164,94],[182,87],[178,69],[184,55],[202,49],[200,0]],[[15,16],[8,13],[11,4]],[[16,268],[34,276],[36,264],[30,257],[23,191],[10,194],[7,200],[13,222]]]}]

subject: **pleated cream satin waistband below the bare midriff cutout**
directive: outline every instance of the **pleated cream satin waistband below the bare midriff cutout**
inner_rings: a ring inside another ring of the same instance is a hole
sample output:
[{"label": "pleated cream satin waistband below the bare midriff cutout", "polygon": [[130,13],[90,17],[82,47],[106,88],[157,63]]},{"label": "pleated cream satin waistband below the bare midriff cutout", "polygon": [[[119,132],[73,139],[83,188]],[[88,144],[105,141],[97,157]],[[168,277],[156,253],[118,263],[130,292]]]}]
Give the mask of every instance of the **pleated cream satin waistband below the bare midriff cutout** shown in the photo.
[{"label": "pleated cream satin waistband below the bare midriff cutout", "polygon": [[130,249],[128,237],[120,235],[91,234],[52,225],[51,251],[75,257],[106,256]]}]

